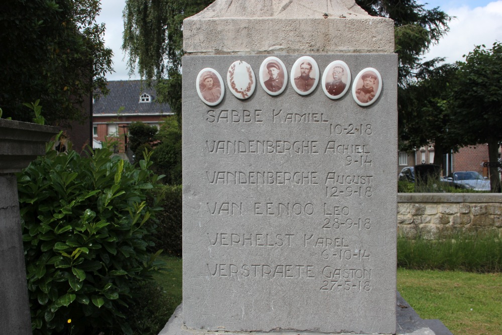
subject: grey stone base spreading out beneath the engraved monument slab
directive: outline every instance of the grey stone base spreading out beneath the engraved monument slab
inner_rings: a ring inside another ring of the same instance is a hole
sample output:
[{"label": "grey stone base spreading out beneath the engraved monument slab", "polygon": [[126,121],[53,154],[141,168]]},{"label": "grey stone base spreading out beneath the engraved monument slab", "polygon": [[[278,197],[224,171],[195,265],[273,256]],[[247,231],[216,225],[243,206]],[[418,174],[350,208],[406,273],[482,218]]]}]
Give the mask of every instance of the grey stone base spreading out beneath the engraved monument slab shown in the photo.
[{"label": "grey stone base spreading out beneath the engraved monument slab", "polygon": [[[397,335],[453,335],[440,320],[424,320],[397,292],[396,301],[396,334]],[[326,333],[312,331],[296,331],[278,329],[270,332],[260,331],[210,331],[206,329],[189,329],[183,324],[183,303],[180,304],[173,315],[161,330],[159,335],[326,335]],[[337,335],[349,335],[349,333],[337,333]],[[350,335],[356,335],[350,333]],[[376,335],[376,334],[360,334]]]}]

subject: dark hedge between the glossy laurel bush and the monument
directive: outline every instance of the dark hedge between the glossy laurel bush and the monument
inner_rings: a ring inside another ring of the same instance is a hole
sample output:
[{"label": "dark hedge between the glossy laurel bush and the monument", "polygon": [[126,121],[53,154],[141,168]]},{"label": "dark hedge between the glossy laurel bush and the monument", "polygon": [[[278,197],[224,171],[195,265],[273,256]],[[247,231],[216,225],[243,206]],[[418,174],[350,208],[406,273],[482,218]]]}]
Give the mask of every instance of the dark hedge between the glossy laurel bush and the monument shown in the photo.
[{"label": "dark hedge between the glossy laurel bush and the monument", "polygon": [[159,220],[155,248],[181,257],[182,254],[182,187],[165,185],[152,190],[151,194],[162,199],[163,210],[157,214]]}]

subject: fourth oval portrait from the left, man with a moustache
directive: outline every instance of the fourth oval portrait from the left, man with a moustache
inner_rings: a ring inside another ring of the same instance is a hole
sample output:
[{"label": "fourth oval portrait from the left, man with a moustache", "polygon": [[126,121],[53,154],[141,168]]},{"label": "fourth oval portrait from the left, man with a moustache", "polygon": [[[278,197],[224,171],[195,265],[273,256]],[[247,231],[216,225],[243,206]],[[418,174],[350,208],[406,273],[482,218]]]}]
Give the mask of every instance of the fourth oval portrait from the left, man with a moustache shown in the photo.
[{"label": "fourth oval portrait from the left, man with a moustache", "polygon": [[314,58],[300,57],[291,69],[291,86],[298,94],[308,95],[316,88],[319,76],[319,66]]}]

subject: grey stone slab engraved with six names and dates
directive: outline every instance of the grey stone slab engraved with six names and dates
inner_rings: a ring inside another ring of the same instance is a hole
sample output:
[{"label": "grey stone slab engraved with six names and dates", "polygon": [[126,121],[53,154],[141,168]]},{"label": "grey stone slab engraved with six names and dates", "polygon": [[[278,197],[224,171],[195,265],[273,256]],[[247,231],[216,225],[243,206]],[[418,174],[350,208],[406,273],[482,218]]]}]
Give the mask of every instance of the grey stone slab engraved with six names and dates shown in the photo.
[{"label": "grey stone slab engraved with six names and dates", "polygon": [[[211,107],[190,91],[193,73],[224,74],[236,58],[196,58],[183,65],[193,67],[183,78],[185,324],[385,332],[395,304],[397,185],[385,172],[397,164],[396,122],[386,120],[395,73],[382,65],[391,87],[366,108],[321,88],[272,97],[260,86]],[[246,56],[253,68],[263,59]],[[316,61],[322,70],[332,59]],[[361,317],[374,326],[361,328]]]}]

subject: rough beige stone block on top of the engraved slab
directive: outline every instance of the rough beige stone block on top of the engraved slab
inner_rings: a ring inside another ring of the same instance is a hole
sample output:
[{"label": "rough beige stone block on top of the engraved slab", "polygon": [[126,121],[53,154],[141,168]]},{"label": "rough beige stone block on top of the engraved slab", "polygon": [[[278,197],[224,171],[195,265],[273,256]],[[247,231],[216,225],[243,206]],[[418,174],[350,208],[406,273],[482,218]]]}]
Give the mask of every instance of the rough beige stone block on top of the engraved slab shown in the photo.
[{"label": "rough beige stone block on top of the engraved slab", "polygon": [[394,22],[353,0],[217,0],[184,20],[186,54],[393,53]]}]

